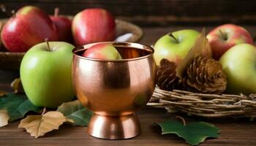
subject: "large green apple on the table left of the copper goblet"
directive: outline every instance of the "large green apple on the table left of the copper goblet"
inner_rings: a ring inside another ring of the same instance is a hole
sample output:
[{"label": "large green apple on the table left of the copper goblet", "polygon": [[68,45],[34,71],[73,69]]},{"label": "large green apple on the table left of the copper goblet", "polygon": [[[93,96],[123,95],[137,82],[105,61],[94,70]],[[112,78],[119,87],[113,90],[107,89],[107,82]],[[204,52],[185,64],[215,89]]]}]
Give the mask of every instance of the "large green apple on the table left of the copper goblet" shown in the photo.
[{"label": "large green apple on the table left of the copper goblet", "polygon": [[74,98],[71,76],[73,48],[67,42],[42,42],[24,55],[20,64],[20,80],[34,105],[56,108]]}]

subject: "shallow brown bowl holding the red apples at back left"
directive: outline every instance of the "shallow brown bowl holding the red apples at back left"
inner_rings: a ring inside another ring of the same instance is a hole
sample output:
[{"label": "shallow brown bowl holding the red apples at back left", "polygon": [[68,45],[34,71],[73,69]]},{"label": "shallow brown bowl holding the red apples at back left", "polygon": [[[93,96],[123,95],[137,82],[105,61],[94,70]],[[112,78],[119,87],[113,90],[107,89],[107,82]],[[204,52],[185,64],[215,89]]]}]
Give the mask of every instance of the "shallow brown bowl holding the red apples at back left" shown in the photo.
[{"label": "shallow brown bowl holding the red apples at back left", "polygon": [[[69,16],[72,19],[72,16]],[[0,23],[4,24],[7,19],[0,19]],[[143,36],[143,31],[139,26],[129,23],[124,20],[116,19],[116,38],[121,39],[123,34],[131,33],[126,42],[138,42]],[[120,41],[120,40],[119,40]],[[0,42],[0,70],[18,71],[20,69],[20,62],[25,53],[10,53],[7,52]]]}]

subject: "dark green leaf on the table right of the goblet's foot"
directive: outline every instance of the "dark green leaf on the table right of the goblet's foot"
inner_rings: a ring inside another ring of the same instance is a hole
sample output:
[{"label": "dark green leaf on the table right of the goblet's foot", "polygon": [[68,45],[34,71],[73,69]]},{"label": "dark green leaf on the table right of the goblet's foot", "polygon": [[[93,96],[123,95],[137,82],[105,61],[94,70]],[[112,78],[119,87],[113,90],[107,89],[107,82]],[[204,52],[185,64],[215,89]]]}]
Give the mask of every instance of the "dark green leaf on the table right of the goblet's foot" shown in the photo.
[{"label": "dark green leaf on the table right of the goblet's foot", "polygon": [[189,123],[184,126],[176,120],[167,120],[158,123],[162,128],[162,134],[177,134],[178,137],[184,138],[190,145],[198,145],[207,137],[217,138],[219,129],[206,122]]}]

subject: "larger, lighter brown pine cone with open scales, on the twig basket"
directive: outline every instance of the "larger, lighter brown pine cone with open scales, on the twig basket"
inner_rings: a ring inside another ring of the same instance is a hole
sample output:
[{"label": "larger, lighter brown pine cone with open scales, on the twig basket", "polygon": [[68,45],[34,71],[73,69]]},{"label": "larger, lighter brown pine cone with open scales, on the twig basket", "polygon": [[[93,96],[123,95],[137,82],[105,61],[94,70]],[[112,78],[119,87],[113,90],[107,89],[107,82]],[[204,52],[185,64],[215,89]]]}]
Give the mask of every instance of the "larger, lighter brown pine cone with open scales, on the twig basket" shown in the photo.
[{"label": "larger, lighter brown pine cone with open scales, on the twig basket", "polygon": [[218,61],[199,55],[187,66],[182,82],[189,90],[220,94],[226,89],[227,77]]}]

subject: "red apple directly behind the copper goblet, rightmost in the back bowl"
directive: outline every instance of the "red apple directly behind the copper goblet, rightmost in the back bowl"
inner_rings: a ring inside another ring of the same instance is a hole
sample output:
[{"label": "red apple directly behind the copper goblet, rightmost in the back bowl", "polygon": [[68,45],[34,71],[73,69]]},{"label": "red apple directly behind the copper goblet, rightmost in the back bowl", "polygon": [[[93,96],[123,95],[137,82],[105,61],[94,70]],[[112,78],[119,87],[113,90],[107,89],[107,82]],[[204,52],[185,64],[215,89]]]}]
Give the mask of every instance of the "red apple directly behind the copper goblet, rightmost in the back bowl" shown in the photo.
[{"label": "red apple directly behind the copper goblet, rightmost in the back bowl", "polygon": [[113,41],[116,37],[115,19],[105,9],[84,9],[75,15],[72,34],[76,45]]}]

